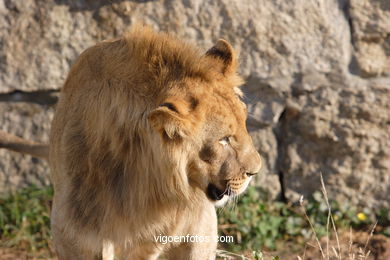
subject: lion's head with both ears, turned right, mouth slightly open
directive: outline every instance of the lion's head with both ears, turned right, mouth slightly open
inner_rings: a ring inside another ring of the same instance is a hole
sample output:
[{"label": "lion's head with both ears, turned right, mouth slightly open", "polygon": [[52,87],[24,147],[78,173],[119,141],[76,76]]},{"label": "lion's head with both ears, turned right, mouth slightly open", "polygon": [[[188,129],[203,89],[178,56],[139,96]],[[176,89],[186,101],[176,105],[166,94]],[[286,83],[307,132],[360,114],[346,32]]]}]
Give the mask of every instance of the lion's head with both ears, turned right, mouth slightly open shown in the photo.
[{"label": "lion's head with both ears, turned right, mouth slightly open", "polygon": [[207,78],[173,83],[149,120],[161,137],[161,151],[170,155],[167,163],[180,165],[190,185],[221,205],[246,189],[261,159],[246,129],[233,48],[219,40],[199,63],[207,66]]}]

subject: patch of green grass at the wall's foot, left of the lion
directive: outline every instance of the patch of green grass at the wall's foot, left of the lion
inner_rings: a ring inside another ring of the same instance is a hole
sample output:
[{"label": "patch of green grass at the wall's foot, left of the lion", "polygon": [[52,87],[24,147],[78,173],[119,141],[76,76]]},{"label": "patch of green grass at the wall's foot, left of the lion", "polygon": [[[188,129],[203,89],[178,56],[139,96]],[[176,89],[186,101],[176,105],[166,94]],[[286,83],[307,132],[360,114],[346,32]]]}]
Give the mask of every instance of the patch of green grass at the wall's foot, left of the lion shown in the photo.
[{"label": "patch of green grass at the wall's foot, left of the lion", "polygon": [[52,196],[51,187],[32,186],[0,198],[1,244],[30,251],[47,249]]}]

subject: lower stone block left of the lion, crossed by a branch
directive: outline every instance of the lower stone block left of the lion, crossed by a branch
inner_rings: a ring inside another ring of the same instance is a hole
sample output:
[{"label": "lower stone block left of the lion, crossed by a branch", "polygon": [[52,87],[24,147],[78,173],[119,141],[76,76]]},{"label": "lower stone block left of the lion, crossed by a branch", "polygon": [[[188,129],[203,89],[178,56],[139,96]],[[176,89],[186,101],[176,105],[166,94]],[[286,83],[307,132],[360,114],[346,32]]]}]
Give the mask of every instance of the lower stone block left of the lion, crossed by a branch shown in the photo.
[{"label": "lower stone block left of the lion, crossed by a branch", "polygon": [[[36,104],[0,103],[0,126],[4,131],[30,140],[48,142],[54,109]],[[0,193],[29,184],[49,183],[46,161],[0,149]]]}]

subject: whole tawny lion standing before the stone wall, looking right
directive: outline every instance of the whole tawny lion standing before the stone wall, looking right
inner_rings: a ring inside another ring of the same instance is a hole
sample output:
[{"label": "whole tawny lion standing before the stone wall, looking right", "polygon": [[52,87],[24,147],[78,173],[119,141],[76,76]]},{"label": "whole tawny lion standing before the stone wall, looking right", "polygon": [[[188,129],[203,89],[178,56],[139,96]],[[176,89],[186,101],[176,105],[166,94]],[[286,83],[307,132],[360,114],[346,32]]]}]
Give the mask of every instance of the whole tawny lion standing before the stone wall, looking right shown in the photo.
[{"label": "whole tawny lion standing before the stone wall, looking right", "polygon": [[[80,55],[44,153],[59,259],[215,259],[215,206],[262,164],[237,66],[225,40],[202,54],[145,27]],[[156,239],[188,235],[207,239]]]}]

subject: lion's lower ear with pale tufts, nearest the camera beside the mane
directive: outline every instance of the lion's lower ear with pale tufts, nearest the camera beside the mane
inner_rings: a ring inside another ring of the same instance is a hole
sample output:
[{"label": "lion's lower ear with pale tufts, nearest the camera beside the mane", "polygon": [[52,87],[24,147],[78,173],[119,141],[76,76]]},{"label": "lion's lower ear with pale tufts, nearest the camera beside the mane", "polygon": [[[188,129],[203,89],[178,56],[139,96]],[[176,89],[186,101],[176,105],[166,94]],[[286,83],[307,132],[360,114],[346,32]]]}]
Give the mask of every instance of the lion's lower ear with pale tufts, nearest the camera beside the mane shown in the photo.
[{"label": "lion's lower ear with pale tufts, nearest the camera beside the mane", "polygon": [[188,122],[173,103],[165,102],[154,109],[149,114],[149,122],[165,140],[178,140],[188,135]]}]

